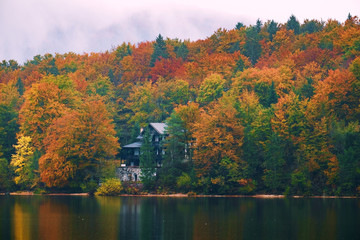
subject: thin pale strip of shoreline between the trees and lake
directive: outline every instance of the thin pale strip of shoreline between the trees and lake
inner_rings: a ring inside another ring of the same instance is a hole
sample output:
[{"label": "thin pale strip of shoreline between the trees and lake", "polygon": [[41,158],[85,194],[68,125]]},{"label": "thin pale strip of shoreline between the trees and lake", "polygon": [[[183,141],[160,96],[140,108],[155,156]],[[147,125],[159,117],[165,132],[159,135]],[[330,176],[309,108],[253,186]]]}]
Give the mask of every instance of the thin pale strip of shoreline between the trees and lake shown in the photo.
[{"label": "thin pale strip of shoreline between the trees and lake", "polygon": [[[11,192],[8,194],[0,193],[0,196],[90,196],[88,193],[34,193],[34,192]],[[257,198],[257,199],[285,199],[285,198],[322,198],[322,199],[357,199],[357,196],[285,196],[275,194],[255,194],[255,195],[188,195],[185,193],[174,193],[174,194],[119,194],[114,197],[162,197],[162,198]]]}]

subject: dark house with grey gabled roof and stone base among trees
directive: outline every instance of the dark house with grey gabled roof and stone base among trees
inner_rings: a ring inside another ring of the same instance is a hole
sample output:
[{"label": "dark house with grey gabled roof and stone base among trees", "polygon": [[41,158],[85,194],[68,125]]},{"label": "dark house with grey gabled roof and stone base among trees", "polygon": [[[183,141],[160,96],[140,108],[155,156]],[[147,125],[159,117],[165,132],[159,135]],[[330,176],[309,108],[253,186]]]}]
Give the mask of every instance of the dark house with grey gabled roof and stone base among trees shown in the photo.
[{"label": "dark house with grey gabled roof and stone base among trees", "polygon": [[117,174],[122,181],[139,180],[140,171],[140,149],[143,144],[145,134],[150,135],[150,142],[154,148],[156,166],[161,167],[164,155],[163,140],[166,137],[165,123],[150,123],[147,127],[141,129],[136,142],[122,147],[121,150],[121,167],[117,169]]}]

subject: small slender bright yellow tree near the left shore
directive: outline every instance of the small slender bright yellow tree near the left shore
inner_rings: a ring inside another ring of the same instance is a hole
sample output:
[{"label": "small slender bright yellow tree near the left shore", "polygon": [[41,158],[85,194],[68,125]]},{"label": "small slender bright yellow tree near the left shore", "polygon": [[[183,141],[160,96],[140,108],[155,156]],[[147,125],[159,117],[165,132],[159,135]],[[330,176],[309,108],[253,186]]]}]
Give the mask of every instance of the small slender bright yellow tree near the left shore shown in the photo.
[{"label": "small slender bright yellow tree near the left shore", "polygon": [[15,183],[24,189],[30,189],[36,183],[34,152],[31,138],[19,135],[15,154],[11,158],[11,166],[14,167]]}]

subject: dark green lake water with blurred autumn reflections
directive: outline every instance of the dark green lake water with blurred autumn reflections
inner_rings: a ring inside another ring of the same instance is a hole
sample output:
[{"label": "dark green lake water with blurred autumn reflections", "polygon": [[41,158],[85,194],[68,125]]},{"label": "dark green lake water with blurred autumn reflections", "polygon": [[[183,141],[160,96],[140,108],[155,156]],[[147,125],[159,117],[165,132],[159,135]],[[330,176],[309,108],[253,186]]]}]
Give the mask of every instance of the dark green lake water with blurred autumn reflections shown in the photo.
[{"label": "dark green lake water with blurred autumn reflections", "polygon": [[0,196],[0,239],[360,239],[360,200]]}]

